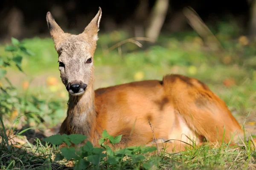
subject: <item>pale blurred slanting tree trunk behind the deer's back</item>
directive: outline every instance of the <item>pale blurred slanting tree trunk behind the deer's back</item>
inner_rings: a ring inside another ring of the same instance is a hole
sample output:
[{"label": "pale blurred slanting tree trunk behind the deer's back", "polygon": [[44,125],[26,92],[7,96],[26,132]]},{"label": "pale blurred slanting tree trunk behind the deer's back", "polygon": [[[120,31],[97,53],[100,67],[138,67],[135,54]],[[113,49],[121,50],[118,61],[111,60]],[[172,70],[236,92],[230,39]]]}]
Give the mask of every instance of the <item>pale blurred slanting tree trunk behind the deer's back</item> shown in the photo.
[{"label": "pale blurred slanting tree trunk behind the deer's back", "polygon": [[150,14],[150,23],[146,29],[146,37],[157,40],[166,18],[169,8],[169,0],[156,0]]}]

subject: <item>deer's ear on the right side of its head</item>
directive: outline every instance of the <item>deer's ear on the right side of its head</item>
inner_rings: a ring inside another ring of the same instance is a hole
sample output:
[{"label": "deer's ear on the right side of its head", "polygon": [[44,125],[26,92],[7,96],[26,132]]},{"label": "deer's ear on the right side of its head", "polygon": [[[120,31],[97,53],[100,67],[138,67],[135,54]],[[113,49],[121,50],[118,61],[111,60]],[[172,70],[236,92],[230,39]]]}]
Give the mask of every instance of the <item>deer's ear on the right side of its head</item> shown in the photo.
[{"label": "deer's ear on the right side of its head", "polygon": [[85,27],[84,32],[82,34],[87,35],[94,40],[98,40],[98,32],[99,32],[99,22],[102,17],[102,10],[99,7],[98,13],[91,20],[91,22]]}]

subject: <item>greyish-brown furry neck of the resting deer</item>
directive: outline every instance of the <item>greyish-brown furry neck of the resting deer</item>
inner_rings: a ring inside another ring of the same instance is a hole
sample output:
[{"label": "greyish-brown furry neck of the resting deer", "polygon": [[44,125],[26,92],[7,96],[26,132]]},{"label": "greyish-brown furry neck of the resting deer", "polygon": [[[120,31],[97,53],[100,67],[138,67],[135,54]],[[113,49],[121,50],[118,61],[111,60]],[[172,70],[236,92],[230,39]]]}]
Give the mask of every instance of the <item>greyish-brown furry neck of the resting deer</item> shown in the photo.
[{"label": "greyish-brown furry neck of the resting deer", "polygon": [[96,121],[93,85],[87,86],[81,96],[69,95],[67,127],[69,133],[82,134],[90,140]]}]

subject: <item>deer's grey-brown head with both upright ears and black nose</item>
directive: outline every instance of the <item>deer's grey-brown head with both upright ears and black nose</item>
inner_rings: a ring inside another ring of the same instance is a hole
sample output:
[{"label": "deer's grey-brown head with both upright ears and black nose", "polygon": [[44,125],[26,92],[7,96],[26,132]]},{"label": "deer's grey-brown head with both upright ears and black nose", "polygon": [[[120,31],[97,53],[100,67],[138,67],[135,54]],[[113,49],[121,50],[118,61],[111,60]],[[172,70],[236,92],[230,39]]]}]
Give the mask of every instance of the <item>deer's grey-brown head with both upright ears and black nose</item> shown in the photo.
[{"label": "deer's grey-brown head with both upright ears and black nose", "polygon": [[47,24],[58,53],[61,81],[70,95],[82,95],[93,86],[93,54],[98,40],[99,22],[102,10],[79,35],[65,33],[47,12]]}]

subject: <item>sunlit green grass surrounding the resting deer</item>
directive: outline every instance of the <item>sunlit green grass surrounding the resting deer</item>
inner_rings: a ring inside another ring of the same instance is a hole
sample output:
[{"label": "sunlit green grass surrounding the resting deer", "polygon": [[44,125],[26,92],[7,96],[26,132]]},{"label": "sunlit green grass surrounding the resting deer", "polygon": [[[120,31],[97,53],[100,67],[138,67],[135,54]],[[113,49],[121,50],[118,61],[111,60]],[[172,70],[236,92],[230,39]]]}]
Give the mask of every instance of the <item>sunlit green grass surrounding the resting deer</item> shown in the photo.
[{"label": "sunlit green grass surrounding the resting deer", "polygon": [[[254,137],[256,42],[244,45],[239,37],[231,38],[230,35],[227,38],[229,35],[224,33],[218,34],[226,49],[224,54],[209,51],[194,32],[163,35],[159,43],[145,50],[127,43],[122,46],[121,54],[117,49],[105,52],[115,43],[128,38],[127,34],[112,32],[100,35],[95,53],[95,89],[131,81],[161,80],[163,75],[170,73],[195,77],[205,82],[226,102],[240,124],[246,121],[244,126]],[[19,98],[13,99],[11,111],[3,116],[4,126],[0,128],[1,169],[68,167],[70,161],[54,161],[58,148],[42,141],[46,132],[53,131],[64,120],[68,99],[59,78],[58,56],[52,39],[35,37],[22,42],[35,55],[23,57],[22,68],[25,74],[13,67],[7,69],[6,76],[17,88],[13,96]],[[5,46],[0,46],[0,56],[3,58],[11,56],[5,52]],[[228,62],[219,61],[217,55],[224,55]],[[1,86],[7,85],[5,80],[0,81]],[[7,132],[11,132],[11,129],[15,134],[20,132],[17,134],[19,140],[13,133],[6,133],[3,127]],[[17,145],[4,144],[6,138],[13,138],[13,144]],[[203,146],[160,158],[160,169],[255,169],[256,153],[253,143],[248,141],[239,150],[222,144],[219,148]],[[129,168],[133,168],[131,164]]]}]

